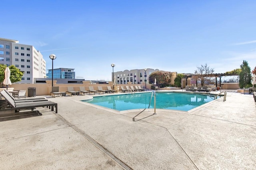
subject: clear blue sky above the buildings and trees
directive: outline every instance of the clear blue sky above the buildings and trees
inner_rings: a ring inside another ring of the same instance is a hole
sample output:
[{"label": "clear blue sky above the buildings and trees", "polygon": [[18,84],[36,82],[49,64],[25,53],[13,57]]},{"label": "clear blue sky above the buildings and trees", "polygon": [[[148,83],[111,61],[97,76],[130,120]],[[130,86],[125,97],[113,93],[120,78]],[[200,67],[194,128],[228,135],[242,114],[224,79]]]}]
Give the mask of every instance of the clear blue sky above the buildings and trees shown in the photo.
[{"label": "clear blue sky above the buildings and trees", "polygon": [[1,2],[0,37],[33,45],[52,68],[111,80],[153,68],[215,73],[256,66],[255,0],[12,0]]}]

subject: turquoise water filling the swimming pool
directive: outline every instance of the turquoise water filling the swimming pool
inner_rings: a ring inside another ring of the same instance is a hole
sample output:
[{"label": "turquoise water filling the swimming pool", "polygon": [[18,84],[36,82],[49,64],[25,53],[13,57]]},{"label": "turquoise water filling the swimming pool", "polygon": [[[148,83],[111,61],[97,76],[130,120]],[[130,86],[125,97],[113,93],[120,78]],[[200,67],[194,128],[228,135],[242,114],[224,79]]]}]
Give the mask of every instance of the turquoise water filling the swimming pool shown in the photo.
[{"label": "turquoise water filling the swimming pool", "polygon": [[[136,93],[113,96],[98,96],[88,102],[98,106],[108,107],[119,111],[148,108],[152,93]],[[157,109],[175,109],[188,111],[214,100],[207,94],[187,94],[177,92],[156,92]],[[154,95],[149,108],[154,108]]]}]

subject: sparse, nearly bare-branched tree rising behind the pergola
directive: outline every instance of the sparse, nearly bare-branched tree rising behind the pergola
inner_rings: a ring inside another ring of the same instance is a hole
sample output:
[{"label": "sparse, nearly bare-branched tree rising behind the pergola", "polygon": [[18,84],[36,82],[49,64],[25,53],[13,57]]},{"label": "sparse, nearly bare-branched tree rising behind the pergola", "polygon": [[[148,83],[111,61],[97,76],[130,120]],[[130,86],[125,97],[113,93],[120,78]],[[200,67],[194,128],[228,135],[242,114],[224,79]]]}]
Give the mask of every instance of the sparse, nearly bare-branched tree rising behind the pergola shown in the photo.
[{"label": "sparse, nearly bare-branched tree rising behind the pergola", "polygon": [[214,76],[213,72],[214,72],[214,69],[209,68],[207,64],[205,64],[204,66],[201,65],[201,67],[199,66],[197,67],[197,70],[195,70],[195,75],[192,76],[192,78],[196,80],[200,80],[201,85],[204,86],[204,82],[206,82],[207,80],[210,81],[210,78]]}]

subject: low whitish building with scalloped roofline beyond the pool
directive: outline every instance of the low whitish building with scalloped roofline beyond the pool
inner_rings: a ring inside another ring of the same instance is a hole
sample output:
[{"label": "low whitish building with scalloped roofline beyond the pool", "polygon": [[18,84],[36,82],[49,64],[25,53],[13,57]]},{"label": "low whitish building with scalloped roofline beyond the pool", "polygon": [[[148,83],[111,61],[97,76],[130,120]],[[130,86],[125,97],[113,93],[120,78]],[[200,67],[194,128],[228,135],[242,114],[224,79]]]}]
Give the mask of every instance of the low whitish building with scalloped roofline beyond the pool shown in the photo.
[{"label": "low whitish building with scalloped roofline beyond the pool", "polygon": [[[145,81],[148,82],[148,77],[152,72],[155,72],[155,71],[159,71],[159,70],[158,69],[154,70],[152,68],[124,70],[124,71],[114,72],[114,76],[116,76],[116,84],[128,84],[128,82],[131,82],[132,84],[142,84]],[[112,80],[113,80],[113,77],[112,77]]]}]

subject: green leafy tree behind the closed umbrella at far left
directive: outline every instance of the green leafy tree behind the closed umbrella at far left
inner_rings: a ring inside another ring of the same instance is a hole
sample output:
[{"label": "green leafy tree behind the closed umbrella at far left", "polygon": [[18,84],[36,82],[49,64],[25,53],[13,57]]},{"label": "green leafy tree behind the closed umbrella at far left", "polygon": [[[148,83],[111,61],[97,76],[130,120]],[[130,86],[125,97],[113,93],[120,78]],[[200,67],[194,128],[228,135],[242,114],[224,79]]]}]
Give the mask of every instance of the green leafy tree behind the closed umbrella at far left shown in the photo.
[{"label": "green leafy tree behind the closed umbrella at far left", "polygon": [[[6,69],[6,65],[4,64],[0,64],[0,82],[1,82],[1,87],[4,86],[3,81],[4,81],[4,70]],[[20,71],[20,69],[18,69],[17,67],[15,67],[14,65],[9,66],[10,68],[10,80],[12,83],[15,82],[20,82],[21,78],[23,76],[23,72]]]}]

